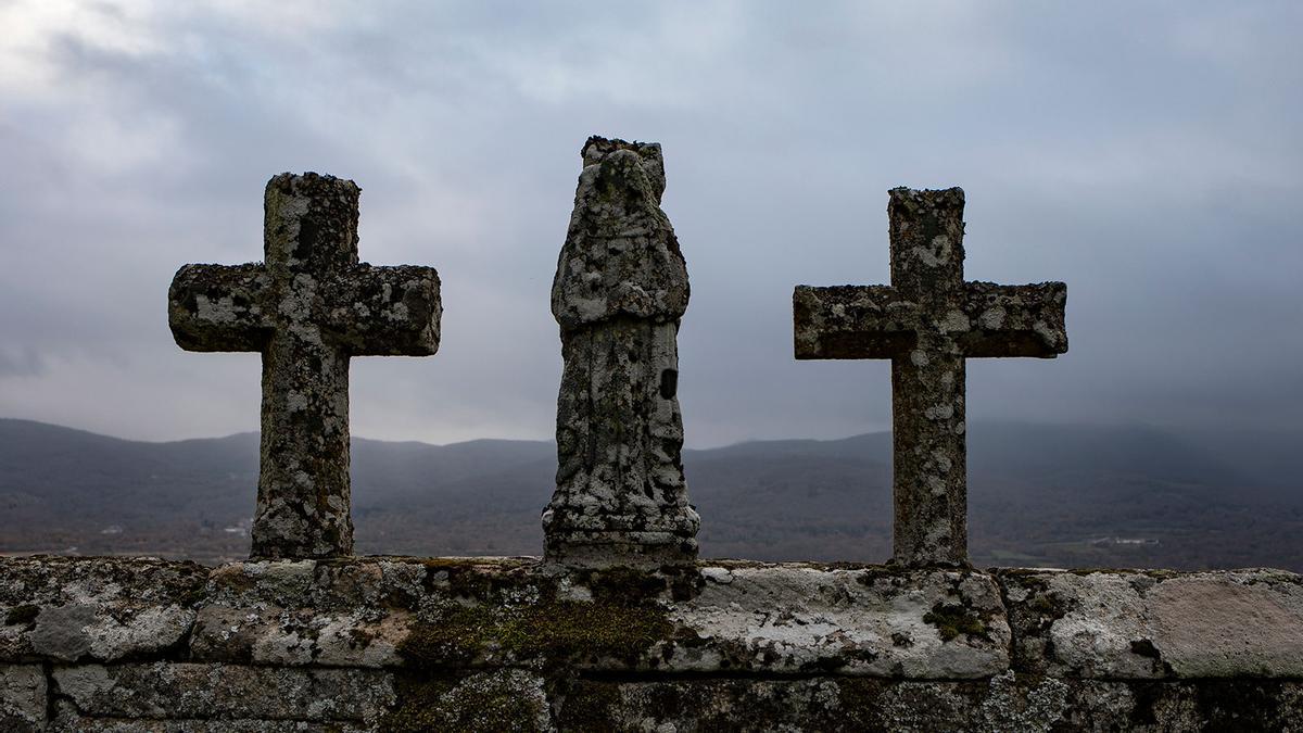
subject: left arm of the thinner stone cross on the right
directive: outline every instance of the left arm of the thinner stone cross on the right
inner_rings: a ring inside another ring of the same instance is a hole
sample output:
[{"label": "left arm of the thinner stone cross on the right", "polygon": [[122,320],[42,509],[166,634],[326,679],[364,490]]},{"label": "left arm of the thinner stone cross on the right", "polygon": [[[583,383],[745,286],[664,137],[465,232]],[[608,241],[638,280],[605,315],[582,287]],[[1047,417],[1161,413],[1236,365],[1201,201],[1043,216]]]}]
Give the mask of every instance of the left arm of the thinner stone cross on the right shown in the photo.
[{"label": "left arm of the thinner stone cross on the right", "polygon": [[796,286],[796,359],[891,359],[912,343],[917,314],[890,286]]}]

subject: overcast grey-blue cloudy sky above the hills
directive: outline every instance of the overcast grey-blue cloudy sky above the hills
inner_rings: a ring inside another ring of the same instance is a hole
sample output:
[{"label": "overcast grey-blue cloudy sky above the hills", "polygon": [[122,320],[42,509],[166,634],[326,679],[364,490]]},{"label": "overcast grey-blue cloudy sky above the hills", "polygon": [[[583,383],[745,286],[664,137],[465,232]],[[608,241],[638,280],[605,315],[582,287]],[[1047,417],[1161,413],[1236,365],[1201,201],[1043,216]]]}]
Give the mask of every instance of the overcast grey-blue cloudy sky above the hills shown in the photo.
[{"label": "overcast grey-blue cloudy sky above the hills", "polygon": [[281,171],[438,267],[434,357],[353,433],[552,434],[549,290],[589,134],[665,146],[689,445],[890,425],[889,365],[792,359],[797,283],[885,283],[886,190],[967,192],[969,279],[1068,283],[1071,351],[973,360],[971,420],[1296,428],[1303,4],[0,0],[0,416],[257,429],[184,352],[186,262],[262,257]]}]

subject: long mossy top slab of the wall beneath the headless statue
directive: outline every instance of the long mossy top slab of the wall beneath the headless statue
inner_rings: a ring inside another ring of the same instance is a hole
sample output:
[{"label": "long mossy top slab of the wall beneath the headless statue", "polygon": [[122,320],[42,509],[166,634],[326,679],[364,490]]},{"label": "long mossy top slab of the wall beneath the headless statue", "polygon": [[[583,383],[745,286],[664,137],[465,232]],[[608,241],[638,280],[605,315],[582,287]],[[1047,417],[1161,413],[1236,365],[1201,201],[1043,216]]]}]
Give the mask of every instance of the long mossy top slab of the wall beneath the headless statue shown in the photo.
[{"label": "long mossy top slab of the wall beneath the headless statue", "polygon": [[220,567],[208,593],[190,640],[203,661],[947,678],[1009,666],[999,590],[960,571],[305,561]]}]

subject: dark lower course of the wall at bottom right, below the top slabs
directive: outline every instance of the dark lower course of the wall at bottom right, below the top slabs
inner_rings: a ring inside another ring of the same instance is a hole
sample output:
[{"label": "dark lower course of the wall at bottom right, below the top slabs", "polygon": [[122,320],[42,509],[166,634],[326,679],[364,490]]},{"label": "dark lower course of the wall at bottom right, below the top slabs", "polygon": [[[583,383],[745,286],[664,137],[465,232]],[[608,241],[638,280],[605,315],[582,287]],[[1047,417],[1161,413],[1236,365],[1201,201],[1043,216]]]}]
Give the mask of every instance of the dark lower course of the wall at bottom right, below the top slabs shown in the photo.
[{"label": "dark lower course of the wall at bottom right, below the top slabs", "polygon": [[980,682],[874,678],[577,683],[559,730],[1303,730],[1303,685],[1105,682],[1006,673]]}]

